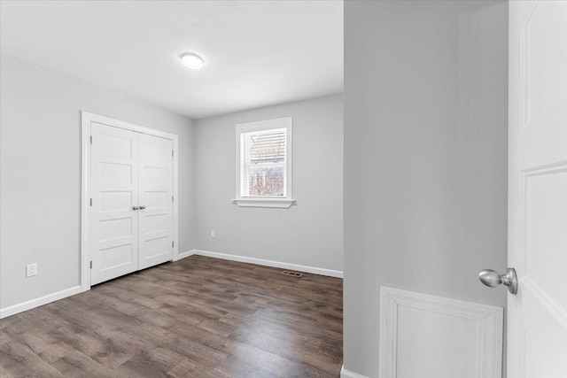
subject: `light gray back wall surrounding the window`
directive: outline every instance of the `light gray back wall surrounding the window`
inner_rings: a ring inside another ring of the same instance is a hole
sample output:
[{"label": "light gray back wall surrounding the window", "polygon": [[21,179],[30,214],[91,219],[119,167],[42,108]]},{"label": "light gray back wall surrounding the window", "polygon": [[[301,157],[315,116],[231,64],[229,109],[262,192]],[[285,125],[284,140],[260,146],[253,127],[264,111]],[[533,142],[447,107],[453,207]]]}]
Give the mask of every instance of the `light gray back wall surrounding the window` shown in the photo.
[{"label": "light gray back wall surrounding the window", "polygon": [[[236,196],[236,125],[293,118],[290,209],[245,208]],[[343,96],[196,121],[199,250],[343,270]],[[216,237],[210,237],[210,230]]]}]

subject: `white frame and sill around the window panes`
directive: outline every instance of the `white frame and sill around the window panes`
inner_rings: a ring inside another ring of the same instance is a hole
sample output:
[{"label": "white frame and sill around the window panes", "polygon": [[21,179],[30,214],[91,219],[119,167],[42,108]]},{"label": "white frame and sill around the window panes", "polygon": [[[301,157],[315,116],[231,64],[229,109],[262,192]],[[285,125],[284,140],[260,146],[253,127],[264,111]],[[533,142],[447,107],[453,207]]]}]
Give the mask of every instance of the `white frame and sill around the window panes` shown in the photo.
[{"label": "white frame and sill around the window panes", "polygon": [[[233,200],[234,204],[241,207],[279,207],[279,208],[290,208],[291,204],[295,203],[293,199],[293,164],[292,164],[292,118],[283,117],[274,120],[260,120],[256,122],[240,123],[237,124],[237,134],[236,134],[236,191],[237,197]],[[241,158],[241,143],[240,138],[242,134],[251,133],[255,131],[271,130],[276,128],[285,128],[285,197],[243,197],[241,193],[241,166],[243,162]]]}]

